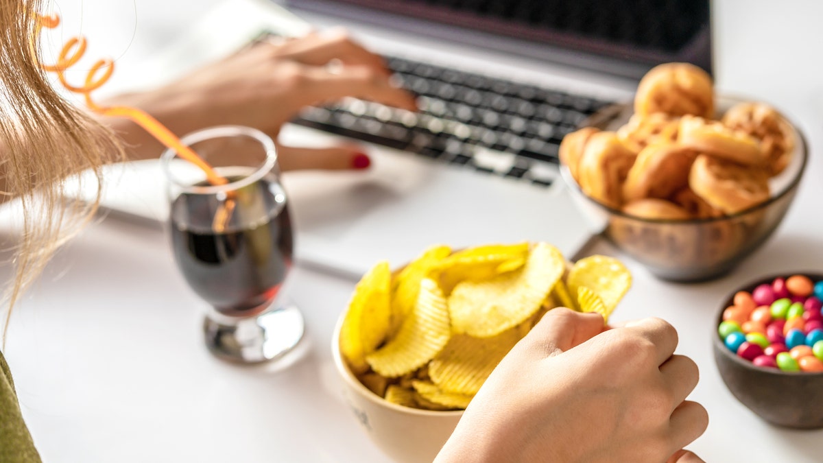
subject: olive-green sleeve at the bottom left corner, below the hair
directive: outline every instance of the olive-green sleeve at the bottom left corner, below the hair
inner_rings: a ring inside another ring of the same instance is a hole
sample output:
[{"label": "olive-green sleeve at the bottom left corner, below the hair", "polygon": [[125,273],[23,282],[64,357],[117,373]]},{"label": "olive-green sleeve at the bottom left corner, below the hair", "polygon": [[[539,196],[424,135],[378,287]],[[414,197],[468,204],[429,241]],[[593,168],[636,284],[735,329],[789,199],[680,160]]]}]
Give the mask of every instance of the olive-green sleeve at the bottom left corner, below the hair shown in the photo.
[{"label": "olive-green sleeve at the bottom left corner, below the hair", "polygon": [[40,454],[23,421],[14,391],[12,372],[0,352],[0,461],[4,463],[40,462]]}]

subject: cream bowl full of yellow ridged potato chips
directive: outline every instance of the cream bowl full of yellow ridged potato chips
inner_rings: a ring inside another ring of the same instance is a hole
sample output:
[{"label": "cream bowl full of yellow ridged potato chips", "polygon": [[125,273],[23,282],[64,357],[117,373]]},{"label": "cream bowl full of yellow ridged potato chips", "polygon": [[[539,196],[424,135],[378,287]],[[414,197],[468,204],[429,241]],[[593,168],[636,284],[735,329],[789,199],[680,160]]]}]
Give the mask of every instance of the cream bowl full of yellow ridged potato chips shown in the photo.
[{"label": "cream bowl full of yellow ridged potato chips", "polygon": [[631,285],[614,258],[574,264],[546,243],[432,246],[375,264],[338,320],[346,402],[394,461],[432,461],[486,378],[556,306],[607,318]]}]

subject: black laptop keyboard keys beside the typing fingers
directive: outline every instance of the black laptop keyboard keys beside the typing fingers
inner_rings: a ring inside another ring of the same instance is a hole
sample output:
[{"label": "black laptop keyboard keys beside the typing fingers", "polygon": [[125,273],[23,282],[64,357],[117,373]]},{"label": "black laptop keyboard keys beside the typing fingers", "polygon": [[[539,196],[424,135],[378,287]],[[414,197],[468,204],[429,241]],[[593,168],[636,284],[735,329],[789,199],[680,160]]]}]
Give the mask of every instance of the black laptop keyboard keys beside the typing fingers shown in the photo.
[{"label": "black laptop keyboard keys beside the typing fingers", "polygon": [[347,98],[293,122],[533,185],[556,178],[565,134],[611,102],[388,57],[419,112]]}]

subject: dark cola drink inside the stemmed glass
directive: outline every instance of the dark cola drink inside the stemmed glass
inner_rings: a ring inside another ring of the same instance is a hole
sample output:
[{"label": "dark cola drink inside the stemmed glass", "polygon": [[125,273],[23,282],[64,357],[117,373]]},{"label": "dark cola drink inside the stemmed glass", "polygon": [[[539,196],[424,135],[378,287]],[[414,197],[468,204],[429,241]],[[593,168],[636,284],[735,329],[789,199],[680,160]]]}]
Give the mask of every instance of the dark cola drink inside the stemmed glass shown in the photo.
[{"label": "dark cola drink inside the stemmed glass", "polygon": [[[230,179],[234,180],[234,179]],[[225,202],[184,193],[171,204],[171,246],[199,297],[227,316],[265,311],[291,266],[293,241],[286,194],[264,177],[240,189],[226,223],[214,217]]]}]

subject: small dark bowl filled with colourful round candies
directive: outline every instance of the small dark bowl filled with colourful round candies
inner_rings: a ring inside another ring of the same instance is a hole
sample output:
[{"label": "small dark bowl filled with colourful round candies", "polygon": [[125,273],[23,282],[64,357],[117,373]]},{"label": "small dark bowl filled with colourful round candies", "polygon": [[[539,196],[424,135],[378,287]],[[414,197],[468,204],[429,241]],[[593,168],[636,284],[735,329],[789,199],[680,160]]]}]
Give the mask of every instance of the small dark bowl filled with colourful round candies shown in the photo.
[{"label": "small dark bowl filled with colourful round candies", "polygon": [[732,292],[714,320],[718,372],[737,400],[787,428],[823,428],[823,274],[776,275]]}]

